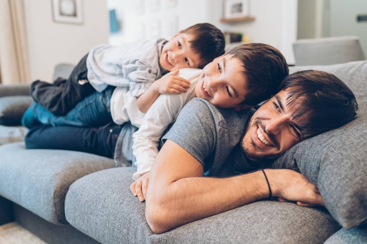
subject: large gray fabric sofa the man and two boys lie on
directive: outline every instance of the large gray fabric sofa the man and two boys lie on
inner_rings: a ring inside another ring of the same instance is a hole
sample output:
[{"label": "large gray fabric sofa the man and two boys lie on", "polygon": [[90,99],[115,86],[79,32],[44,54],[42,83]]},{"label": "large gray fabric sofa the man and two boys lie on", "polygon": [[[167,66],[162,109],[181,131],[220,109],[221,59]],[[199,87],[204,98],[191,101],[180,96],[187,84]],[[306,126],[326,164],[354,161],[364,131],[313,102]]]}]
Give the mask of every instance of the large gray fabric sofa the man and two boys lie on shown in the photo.
[{"label": "large gray fabric sofa the man and two boys lie on", "polygon": [[134,167],[15,142],[0,146],[0,224],[15,219],[47,243],[367,243],[367,61],[290,67],[306,69],[344,80],[359,117],[297,144],[269,167],[302,172],[328,210],[262,200],[155,234],[145,203],[129,189]]}]

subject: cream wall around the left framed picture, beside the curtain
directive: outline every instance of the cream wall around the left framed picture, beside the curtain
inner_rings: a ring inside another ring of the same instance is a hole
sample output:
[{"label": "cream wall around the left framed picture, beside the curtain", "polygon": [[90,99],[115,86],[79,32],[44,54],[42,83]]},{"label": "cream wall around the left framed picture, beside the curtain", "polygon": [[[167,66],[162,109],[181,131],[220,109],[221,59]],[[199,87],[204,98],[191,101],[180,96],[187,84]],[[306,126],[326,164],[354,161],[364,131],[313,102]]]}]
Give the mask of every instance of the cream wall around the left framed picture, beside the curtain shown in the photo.
[{"label": "cream wall around the left framed picture, beside the curtain", "polygon": [[51,0],[24,0],[30,72],[36,79],[51,81],[58,63],[77,64],[92,46],[108,42],[106,0],[83,0],[83,24],[52,21]]}]

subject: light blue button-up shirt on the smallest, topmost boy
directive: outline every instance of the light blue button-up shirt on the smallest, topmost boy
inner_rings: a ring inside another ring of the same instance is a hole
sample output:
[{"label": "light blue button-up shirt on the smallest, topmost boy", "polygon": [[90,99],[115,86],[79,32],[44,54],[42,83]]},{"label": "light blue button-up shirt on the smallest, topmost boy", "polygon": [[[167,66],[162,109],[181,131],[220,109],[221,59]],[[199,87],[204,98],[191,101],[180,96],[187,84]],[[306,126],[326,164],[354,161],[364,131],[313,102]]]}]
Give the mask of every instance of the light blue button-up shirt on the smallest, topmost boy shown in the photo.
[{"label": "light blue button-up shirt on the smallest, topmost boy", "polygon": [[133,97],[143,94],[168,71],[160,67],[164,39],[127,42],[119,46],[102,44],[88,53],[88,80],[101,92],[108,85],[129,87]]}]

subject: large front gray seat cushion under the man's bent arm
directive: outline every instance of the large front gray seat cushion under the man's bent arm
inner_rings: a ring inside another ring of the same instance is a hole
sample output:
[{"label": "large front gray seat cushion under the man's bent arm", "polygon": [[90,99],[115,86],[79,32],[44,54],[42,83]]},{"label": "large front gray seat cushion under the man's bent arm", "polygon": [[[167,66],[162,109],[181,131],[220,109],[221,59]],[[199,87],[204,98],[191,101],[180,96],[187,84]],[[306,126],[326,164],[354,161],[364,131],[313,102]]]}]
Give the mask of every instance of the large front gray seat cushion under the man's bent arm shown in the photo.
[{"label": "large front gray seat cushion under the man's bent arm", "polygon": [[323,208],[264,200],[154,234],[145,202],[130,191],[135,170],[106,169],[75,181],[65,200],[68,222],[101,243],[323,243],[340,228]]}]

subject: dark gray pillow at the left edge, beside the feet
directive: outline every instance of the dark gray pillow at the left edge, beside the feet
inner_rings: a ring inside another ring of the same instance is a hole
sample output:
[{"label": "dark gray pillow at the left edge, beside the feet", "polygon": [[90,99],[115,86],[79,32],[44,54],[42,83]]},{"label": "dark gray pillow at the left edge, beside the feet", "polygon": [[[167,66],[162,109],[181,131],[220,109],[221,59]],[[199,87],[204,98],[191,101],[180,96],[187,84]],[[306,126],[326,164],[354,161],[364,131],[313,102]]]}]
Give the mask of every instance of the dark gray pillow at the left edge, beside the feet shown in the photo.
[{"label": "dark gray pillow at the left edge, beside the feet", "polygon": [[0,97],[0,124],[21,125],[23,114],[32,102],[29,95]]}]

